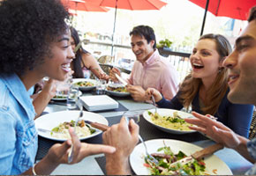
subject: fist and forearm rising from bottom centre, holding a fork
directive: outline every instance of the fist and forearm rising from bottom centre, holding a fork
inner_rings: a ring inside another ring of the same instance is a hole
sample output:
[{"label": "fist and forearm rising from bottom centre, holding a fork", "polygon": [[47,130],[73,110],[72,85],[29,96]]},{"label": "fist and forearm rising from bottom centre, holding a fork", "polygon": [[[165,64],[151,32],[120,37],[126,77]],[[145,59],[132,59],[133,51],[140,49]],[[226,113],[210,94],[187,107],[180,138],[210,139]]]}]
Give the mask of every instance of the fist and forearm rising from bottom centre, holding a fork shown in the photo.
[{"label": "fist and forearm rising from bottom centre, holding a fork", "polygon": [[106,154],[106,168],[110,175],[131,174],[128,158],[139,141],[139,126],[131,120],[129,126],[124,117],[103,133],[103,143],[115,147],[113,154]]}]

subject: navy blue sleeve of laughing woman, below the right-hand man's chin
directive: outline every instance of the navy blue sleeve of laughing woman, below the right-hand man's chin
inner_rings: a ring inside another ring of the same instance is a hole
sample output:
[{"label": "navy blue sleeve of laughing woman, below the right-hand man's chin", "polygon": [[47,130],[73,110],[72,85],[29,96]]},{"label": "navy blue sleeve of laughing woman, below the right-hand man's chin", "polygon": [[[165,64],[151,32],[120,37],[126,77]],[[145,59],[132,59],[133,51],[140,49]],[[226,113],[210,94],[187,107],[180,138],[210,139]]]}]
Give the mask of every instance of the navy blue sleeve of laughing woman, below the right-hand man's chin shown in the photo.
[{"label": "navy blue sleeve of laughing woman, below the right-hand man's chin", "polygon": [[231,104],[228,111],[228,127],[238,135],[248,138],[252,121],[253,106]]}]

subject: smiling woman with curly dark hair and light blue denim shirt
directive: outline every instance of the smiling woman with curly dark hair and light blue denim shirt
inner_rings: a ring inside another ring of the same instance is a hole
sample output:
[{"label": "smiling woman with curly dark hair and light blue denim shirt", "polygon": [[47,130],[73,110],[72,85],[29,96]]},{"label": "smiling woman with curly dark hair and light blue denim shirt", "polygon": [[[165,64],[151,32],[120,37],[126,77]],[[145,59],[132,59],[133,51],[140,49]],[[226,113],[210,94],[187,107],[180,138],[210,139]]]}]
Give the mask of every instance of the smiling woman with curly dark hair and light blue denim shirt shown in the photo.
[{"label": "smiling woman with curly dark hair and light blue denim shirt", "polygon": [[3,0],[0,2],[0,174],[49,174],[57,165],[72,164],[90,154],[114,152],[106,145],[72,139],[56,143],[34,165],[38,136],[34,106],[28,90],[42,77],[64,80],[74,54],[68,13],[58,0]]}]

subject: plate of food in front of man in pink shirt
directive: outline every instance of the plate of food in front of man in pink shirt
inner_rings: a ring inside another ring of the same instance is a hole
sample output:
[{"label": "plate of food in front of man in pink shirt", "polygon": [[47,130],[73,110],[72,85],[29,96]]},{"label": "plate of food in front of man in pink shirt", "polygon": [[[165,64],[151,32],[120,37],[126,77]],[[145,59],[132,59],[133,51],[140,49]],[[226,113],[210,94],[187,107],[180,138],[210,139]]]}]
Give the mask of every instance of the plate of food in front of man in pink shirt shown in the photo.
[{"label": "plate of food in front of man in pink shirt", "polygon": [[116,97],[126,97],[130,95],[130,92],[127,92],[123,84],[108,84],[106,92]]}]

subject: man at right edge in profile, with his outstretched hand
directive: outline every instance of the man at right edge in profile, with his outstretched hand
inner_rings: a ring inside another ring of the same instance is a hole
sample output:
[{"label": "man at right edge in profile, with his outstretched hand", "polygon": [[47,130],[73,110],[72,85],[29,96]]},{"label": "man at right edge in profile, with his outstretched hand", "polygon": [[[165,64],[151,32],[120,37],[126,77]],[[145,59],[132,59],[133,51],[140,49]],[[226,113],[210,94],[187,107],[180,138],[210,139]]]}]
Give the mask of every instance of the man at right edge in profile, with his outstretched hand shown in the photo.
[{"label": "man at right edge in profile, with his outstretched hand", "polygon": [[[253,104],[256,106],[256,6],[252,7],[248,26],[236,40],[235,50],[226,58],[223,65],[230,70],[228,99],[232,103]],[[243,157],[256,161],[256,138],[252,141],[235,134],[221,122],[205,115],[192,113],[196,118],[185,121],[196,125],[198,130],[226,147],[237,150]],[[241,119],[243,121],[243,119]],[[245,174],[256,174],[256,165]]]}]

